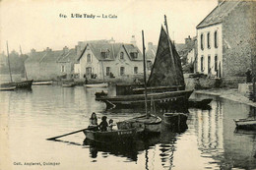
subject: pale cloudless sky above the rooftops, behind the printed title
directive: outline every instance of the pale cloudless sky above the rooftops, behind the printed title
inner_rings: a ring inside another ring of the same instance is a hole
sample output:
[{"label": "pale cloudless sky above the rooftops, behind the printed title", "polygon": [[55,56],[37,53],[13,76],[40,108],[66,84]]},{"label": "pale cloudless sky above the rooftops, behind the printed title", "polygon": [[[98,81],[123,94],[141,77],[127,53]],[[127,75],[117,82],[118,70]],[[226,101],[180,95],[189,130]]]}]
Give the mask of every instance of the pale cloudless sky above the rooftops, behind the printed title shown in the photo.
[{"label": "pale cloudless sky above the rooftops, behind the printed title", "polygon": [[[218,5],[218,0],[2,0],[0,1],[0,51],[29,53],[50,47],[74,48],[78,41],[110,39],[142,46],[158,44],[167,17],[168,31],[176,43],[196,35],[196,26]],[[82,18],[71,18],[81,14]],[[100,18],[84,18],[84,14]],[[107,18],[102,18],[107,16]],[[117,16],[117,18],[109,18]],[[66,16],[66,18],[63,18]]]}]

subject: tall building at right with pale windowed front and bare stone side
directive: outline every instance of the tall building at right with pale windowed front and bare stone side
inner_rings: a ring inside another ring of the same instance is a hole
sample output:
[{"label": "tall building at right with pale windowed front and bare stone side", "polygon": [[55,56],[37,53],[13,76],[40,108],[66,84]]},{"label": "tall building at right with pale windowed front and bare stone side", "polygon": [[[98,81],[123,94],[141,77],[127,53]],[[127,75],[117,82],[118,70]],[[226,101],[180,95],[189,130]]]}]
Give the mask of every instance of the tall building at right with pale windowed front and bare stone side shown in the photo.
[{"label": "tall building at right with pale windowed front and bare stone side", "polygon": [[244,76],[252,68],[255,5],[255,1],[219,1],[197,26],[197,72],[228,78]]}]

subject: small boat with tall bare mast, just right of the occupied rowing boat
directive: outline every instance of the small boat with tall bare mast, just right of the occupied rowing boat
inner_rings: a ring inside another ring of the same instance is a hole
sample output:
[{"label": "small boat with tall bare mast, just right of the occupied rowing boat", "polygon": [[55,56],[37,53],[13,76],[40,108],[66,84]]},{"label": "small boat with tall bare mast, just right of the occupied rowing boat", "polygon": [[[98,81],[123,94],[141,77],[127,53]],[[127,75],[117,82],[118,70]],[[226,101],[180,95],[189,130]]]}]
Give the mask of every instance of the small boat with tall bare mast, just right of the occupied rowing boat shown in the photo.
[{"label": "small boat with tall bare mast, just right of the occupied rowing boat", "polygon": [[[137,128],[139,133],[160,133],[161,119],[148,112],[148,94],[147,94],[147,82],[146,82],[146,57],[145,57],[145,44],[144,44],[144,31],[142,30],[143,41],[143,66],[144,66],[144,83],[145,83],[145,111],[146,115],[135,117],[123,122],[118,122],[118,129]],[[153,100],[153,99],[152,99]],[[151,105],[153,101],[151,100]],[[152,111],[152,109],[151,109]]]}]

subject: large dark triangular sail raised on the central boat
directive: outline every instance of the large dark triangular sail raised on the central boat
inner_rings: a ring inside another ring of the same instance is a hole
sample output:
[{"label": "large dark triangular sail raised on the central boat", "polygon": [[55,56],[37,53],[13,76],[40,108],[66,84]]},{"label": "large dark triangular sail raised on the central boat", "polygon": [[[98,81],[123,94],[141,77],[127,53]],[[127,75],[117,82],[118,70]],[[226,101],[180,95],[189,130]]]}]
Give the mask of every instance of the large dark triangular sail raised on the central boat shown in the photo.
[{"label": "large dark triangular sail raised on the central boat", "polygon": [[179,55],[162,27],[157,55],[147,84],[149,86],[185,85]]}]

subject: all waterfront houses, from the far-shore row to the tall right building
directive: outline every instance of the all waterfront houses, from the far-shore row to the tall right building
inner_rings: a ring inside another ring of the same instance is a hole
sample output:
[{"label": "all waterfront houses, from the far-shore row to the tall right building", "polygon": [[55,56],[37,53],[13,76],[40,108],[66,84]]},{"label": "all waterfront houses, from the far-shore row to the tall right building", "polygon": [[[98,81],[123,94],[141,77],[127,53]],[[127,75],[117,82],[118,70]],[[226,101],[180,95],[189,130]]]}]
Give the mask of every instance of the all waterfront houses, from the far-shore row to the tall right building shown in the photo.
[{"label": "all waterfront houses, from the far-shore row to the tall right building", "polygon": [[[218,6],[196,27],[197,35],[185,38],[185,44],[175,44],[182,63],[192,64],[194,72],[212,77],[244,76],[256,62],[255,1],[219,0]],[[148,70],[151,69],[158,47],[148,43]],[[80,79],[120,78],[143,73],[143,58],[136,45],[110,40],[79,42],[75,48],[52,51],[32,50],[25,62],[32,79],[54,79],[76,75]]]}]

